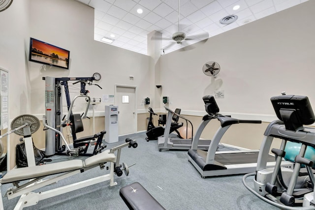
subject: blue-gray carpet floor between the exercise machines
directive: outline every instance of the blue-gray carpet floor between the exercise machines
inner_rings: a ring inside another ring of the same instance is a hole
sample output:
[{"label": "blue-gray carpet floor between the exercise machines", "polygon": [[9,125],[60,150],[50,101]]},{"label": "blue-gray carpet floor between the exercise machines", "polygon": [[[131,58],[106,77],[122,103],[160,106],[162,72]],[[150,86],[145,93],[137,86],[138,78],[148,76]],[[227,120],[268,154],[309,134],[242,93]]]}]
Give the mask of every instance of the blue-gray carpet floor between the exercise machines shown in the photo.
[{"label": "blue-gray carpet floor between the exercise machines", "polygon": [[[243,175],[211,177],[203,179],[188,161],[187,151],[158,151],[157,141],[147,142],[145,133],[120,136],[118,143],[107,144],[112,148],[129,137],[138,143],[136,149],[123,148],[121,163],[136,163],[129,168],[129,176],[115,176],[117,185],[109,186],[109,181],[88,186],[70,193],[43,201],[26,210],[127,210],[119,195],[120,188],[139,182],[167,210],[272,210],[277,209],[249,192],[242,183]],[[220,150],[227,148],[220,147]],[[53,162],[74,159],[55,155]],[[86,157],[79,157],[86,158]],[[49,163],[47,163],[49,164]],[[108,165],[108,164],[107,164]],[[41,188],[45,191],[58,186],[87,180],[108,173],[98,167],[77,174],[58,183]],[[252,178],[248,179],[250,185]],[[1,186],[2,196],[12,184]],[[18,199],[2,198],[4,210],[12,210]],[[151,210],[148,207],[148,210]]]}]

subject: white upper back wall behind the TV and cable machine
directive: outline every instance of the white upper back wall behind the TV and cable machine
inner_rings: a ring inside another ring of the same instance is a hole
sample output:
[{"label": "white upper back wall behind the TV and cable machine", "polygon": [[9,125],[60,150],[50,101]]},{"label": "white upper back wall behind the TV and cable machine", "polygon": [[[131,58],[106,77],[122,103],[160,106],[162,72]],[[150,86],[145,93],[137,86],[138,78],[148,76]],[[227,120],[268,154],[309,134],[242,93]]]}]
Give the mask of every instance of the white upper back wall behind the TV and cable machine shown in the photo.
[{"label": "white upper back wall behind the TV and cable machine", "polygon": [[[86,86],[91,98],[114,95],[115,84],[136,86],[140,106],[141,100],[150,94],[150,84],[147,83],[150,57],[95,41],[94,9],[85,4],[74,0],[32,0],[30,4],[29,36],[70,51],[69,70],[29,62],[33,114],[45,111],[45,81],[42,77],[92,77],[95,72],[101,74],[101,80],[95,84],[102,90]],[[133,80],[129,79],[130,75]],[[69,89],[71,98],[79,94],[80,84],[76,87],[77,90]],[[85,105],[84,100],[76,100],[74,111],[83,112]],[[109,103],[96,105],[95,110],[103,112],[105,105]]]}]

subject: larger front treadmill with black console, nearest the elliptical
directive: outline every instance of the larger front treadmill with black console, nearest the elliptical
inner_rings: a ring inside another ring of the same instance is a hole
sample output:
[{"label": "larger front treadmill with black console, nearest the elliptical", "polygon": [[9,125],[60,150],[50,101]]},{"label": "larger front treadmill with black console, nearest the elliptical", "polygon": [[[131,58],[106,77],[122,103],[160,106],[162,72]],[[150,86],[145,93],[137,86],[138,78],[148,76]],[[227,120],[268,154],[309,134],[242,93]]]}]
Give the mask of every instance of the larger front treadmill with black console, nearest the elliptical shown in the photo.
[{"label": "larger front treadmill with black console, nearest the elliptical", "polygon": [[[222,136],[232,124],[238,123],[261,123],[261,120],[238,120],[219,114],[219,107],[212,95],[204,96],[205,109],[208,115],[203,120],[196,131],[192,141],[191,149],[188,151],[189,162],[198,170],[202,178],[223,175],[247,174],[255,172],[259,150],[232,150],[216,151]],[[200,135],[208,122],[217,119],[221,122],[212,139],[208,151],[199,150],[197,145]],[[274,167],[276,158],[268,155],[267,167]],[[283,161],[283,167],[293,168],[293,163]]]}]

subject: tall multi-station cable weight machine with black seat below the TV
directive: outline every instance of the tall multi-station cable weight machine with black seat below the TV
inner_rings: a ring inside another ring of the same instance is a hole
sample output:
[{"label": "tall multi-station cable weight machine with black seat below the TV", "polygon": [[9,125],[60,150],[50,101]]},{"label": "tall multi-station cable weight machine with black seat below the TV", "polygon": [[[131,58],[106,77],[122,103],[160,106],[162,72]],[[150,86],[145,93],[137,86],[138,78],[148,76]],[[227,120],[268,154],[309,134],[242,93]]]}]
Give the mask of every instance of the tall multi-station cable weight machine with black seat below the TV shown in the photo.
[{"label": "tall multi-station cable weight machine with black seat below the TV", "polygon": [[[86,90],[86,85],[96,85],[100,89],[102,89],[97,84],[93,84],[93,81],[95,80],[94,77],[62,77],[62,78],[55,78],[55,77],[43,77],[43,80],[45,80],[45,116],[46,121],[45,123],[55,128],[56,130],[62,132],[62,128],[65,126],[70,126],[72,130],[72,138],[73,142],[77,140],[76,132],[75,130],[77,127],[80,131],[83,131],[83,124],[79,123],[79,126],[75,126],[73,124],[73,121],[78,120],[80,121],[81,118],[85,119],[87,118],[87,113],[90,105],[90,96],[88,96],[89,90]],[[76,95],[72,101],[70,99],[70,92],[69,92],[69,81],[73,81],[73,85],[80,83],[80,93]],[[63,115],[63,100],[62,100],[62,87],[64,89],[65,93],[65,99],[67,103],[67,114]],[[79,98],[84,97],[87,101],[87,106],[85,112],[78,118],[78,114],[72,113],[72,108],[74,101]],[[76,119],[74,120],[74,116],[76,116]],[[47,127],[46,127],[47,128]],[[80,132],[77,131],[77,132]],[[102,149],[104,149],[104,146],[101,146],[101,139],[103,138],[103,135],[105,134],[105,131],[102,131],[100,133],[97,133],[93,136],[89,136],[87,138],[80,138],[81,144],[73,144],[74,149],[68,150],[68,146],[65,144],[62,144],[61,135],[59,132],[54,131],[52,129],[46,129],[46,156],[52,156],[54,154],[70,154],[70,155],[84,155],[84,156],[91,156],[98,152],[101,152]],[[88,147],[88,141],[91,141],[92,139],[97,138],[97,142],[95,144],[94,152],[92,154],[86,153],[87,147]],[[64,141],[63,141],[64,142]],[[77,145],[78,147],[76,148]],[[82,150],[82,147],[86,147],[86,150]],[[83,152],[82,152],[83,151]],[[65,153],[64,153],[65,152]]]}]

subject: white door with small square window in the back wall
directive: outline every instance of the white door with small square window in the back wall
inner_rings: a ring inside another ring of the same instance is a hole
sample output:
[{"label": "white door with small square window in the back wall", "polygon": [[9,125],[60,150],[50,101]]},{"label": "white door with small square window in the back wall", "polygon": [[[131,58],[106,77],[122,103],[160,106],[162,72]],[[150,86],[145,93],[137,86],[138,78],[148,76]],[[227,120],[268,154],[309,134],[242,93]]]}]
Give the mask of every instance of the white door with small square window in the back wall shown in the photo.
[{"label": "white door with small square window in the back wall", "polygon": [[116,86],[115,101],[118,105],[119,135],[135,133],[136,130],[136,88]]}]

